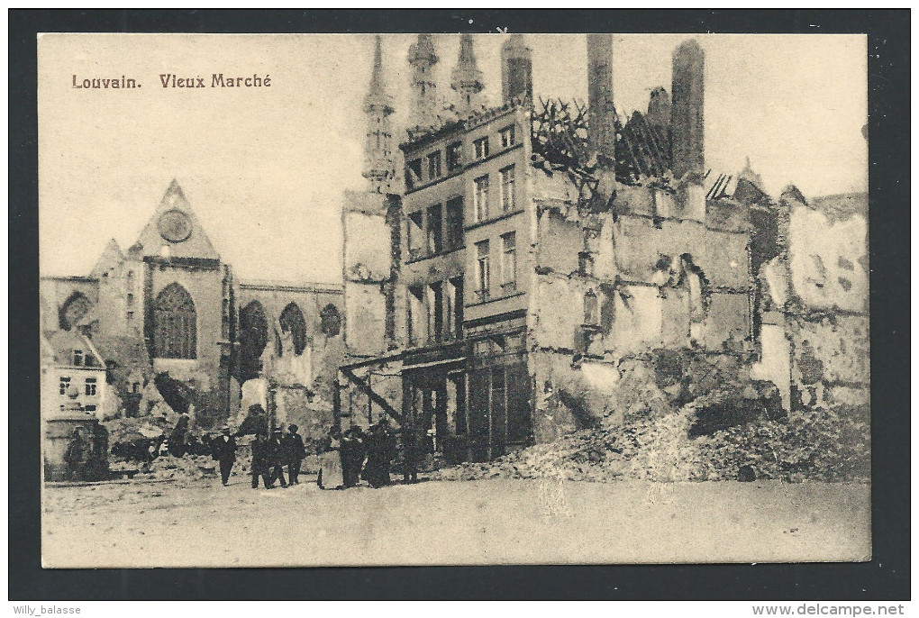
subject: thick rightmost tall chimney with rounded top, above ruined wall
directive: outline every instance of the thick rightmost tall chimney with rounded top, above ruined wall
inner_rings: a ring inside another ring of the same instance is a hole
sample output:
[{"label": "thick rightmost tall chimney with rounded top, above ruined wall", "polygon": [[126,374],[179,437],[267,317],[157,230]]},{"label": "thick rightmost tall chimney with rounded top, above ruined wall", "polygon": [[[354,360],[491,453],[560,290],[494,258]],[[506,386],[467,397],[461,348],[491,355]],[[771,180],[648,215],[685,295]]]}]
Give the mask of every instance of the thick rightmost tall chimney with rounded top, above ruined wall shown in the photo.
[{"label": "thick rightmost tall chimney with rounded top, above ruined wall", "polygon": [[705,52],[695,39],[674,51],[670,110],[672,170],[683,217],[705,221]]}]

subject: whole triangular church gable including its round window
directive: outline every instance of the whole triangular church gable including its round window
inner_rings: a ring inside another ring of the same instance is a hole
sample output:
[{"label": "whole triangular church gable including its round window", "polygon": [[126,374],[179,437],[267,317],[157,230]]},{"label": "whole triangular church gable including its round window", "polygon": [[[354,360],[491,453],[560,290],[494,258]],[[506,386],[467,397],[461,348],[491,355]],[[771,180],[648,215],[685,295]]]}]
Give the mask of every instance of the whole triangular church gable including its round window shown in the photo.
[{"label": "whole triangular church gable including its round window", "polygon": [[173,180],[163,201],[129,250],[131,257],[159,256],[220,260],[201,228],[182,187]]}]

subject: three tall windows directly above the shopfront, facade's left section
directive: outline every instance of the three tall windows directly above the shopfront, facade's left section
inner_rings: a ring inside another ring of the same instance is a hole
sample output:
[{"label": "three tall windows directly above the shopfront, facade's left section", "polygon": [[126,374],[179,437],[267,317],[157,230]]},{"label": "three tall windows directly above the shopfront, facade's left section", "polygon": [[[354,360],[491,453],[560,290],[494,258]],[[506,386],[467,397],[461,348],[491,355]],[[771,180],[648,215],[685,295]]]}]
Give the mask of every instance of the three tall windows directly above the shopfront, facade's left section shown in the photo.
[{"label": "three tall windows directly above the shopfront, facade's left section", "polygon": [[463,278],[408,288],[409,345],[441,343],[462,337]]}]

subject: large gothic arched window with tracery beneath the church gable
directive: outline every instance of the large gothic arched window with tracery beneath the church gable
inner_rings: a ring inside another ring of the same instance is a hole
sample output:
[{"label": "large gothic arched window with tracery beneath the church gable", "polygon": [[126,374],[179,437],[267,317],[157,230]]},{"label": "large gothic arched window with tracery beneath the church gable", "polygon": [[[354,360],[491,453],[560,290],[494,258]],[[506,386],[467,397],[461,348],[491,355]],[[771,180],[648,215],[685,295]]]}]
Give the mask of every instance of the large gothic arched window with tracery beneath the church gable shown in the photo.
[{"label": "large gothic arched window with tracery beneath the church gable", "polygon": [[164,287],[153,303],[153,349],[157,358],[198,358],[195,302],[177,283]]}]

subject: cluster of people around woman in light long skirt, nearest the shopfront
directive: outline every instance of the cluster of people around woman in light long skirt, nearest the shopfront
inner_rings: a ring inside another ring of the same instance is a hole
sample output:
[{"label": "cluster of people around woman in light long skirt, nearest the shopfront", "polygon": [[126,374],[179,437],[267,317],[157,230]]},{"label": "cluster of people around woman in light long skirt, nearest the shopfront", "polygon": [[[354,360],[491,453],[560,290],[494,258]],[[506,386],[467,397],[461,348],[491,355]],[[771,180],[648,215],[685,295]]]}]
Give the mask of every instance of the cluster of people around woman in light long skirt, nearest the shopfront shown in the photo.
[{"label": "cluster of people around woman in light long skirt, nearest the shopfront", "polygon": [[355,487],[363,478],[372,488],[384,487],[391,483],[390,468],[395,456],[395,433],[385,418],[367,433],[357,426],[345,433],[333,428],[316,482],[322,489],[346,489]]}]

